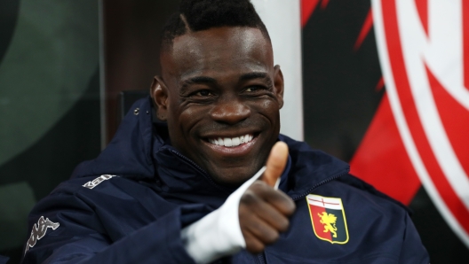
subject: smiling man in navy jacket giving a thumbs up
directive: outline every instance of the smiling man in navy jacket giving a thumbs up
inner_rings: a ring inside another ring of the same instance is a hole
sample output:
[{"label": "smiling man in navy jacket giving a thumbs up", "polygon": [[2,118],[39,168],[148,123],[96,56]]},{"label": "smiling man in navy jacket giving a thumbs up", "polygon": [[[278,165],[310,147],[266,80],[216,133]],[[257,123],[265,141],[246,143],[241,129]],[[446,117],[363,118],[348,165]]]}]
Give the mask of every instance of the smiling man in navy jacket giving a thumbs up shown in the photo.
[{"label": "smiling man in navy jacket giving a thumbs up", "polygon": [[160,59],[151,97],[32,211],[24,263],[428,263],[404,206],[279,135],[249,0],[182,1]]}]

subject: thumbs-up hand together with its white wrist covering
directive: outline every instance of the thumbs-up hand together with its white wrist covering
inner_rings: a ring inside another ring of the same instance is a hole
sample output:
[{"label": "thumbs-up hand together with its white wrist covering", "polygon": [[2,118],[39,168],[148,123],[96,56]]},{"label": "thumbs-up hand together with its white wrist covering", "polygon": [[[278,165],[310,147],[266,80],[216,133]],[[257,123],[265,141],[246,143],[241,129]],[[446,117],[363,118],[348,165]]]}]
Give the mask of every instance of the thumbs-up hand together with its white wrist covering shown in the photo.
[{"label": "thumbs-up hand together with its white wrist covering", "polygon": [[[288,229],[295,204],[274,188],[287,159],[287,144],[274,144],[266,170],[261,168],[217,210],[181,230],[183,245],[196,263],[209,263],[242,248],[262,252]],[[256,181],[260,174],[261,179]]]}]

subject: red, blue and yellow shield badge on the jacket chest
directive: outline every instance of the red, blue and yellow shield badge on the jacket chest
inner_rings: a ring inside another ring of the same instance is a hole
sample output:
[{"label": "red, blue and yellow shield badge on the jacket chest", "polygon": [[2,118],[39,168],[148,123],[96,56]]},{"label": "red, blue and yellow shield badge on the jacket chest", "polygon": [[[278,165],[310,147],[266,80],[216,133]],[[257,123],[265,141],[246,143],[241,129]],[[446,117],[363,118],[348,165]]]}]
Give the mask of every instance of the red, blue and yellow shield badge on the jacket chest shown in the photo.
[{"label": "red, blue and yellow shield badge on the jacket chest", "polygon": [[348,229],[342,199],[309,194],[306,201],[316,237],[332,244],[346,244]]}]

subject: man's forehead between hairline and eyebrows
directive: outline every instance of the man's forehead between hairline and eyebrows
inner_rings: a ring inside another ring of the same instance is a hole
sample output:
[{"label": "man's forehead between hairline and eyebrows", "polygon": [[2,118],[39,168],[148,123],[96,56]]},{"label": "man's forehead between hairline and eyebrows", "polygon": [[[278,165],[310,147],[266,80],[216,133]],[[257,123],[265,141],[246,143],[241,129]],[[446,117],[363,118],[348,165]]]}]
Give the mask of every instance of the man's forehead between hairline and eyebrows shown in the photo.
[{"label": "man's forehead between hairline and eyebrows", "polygon": [[[164,77],[269,72],[272,46],[258,28],[215,27],[180,35],[162,54]],[[166,76],[165,76],[166,75]]]}]

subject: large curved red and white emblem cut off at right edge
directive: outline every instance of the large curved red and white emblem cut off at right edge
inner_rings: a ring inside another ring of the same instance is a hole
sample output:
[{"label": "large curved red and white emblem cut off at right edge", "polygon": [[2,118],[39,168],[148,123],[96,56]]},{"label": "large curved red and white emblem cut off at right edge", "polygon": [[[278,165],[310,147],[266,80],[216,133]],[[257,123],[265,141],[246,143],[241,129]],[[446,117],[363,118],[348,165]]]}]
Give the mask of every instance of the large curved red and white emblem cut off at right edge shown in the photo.
[{"label": "large curved red and white emblem cut off at right edge", "polygon": [[469,2],[373,0],[372,8],[387,95],[409,159],[469,246]]}]

